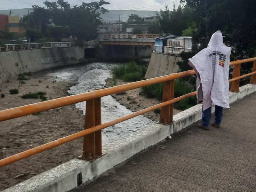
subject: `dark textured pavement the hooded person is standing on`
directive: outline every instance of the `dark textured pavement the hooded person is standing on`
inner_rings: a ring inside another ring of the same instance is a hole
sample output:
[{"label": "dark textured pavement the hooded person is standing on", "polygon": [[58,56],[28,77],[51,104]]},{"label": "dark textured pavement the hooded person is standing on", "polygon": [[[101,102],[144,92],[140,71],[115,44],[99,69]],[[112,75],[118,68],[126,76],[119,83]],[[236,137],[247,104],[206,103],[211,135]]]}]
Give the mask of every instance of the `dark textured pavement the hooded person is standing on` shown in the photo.
[{"label": "dark textured pavement the hooded person is standing on", "polygon": [[256,93],[224,110],[220,129],[196,125],[70,192],[255,192]]}]

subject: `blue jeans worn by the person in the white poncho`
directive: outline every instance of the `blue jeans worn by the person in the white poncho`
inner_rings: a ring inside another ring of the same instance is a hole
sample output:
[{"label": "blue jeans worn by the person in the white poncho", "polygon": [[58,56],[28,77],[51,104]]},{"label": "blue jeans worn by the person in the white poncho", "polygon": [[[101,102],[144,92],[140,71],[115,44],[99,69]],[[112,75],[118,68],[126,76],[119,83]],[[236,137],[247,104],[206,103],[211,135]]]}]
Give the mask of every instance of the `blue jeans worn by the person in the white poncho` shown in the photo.
[{"label": "blue jeans worn by the person in the white poncho", "polygon": [[[220,107],[218,105],[215,105],[214,107],[215,107],[214,124],[220,125],[221,121],[222,121],[222,117],[223,117],[223,107]],[[208,109],[203,110],[203,107],[202,107],[202,112],[203,112],[202,125],[205,127],[208,127],[210,124],[211,117],[212,117],[212,108],[210,107]]]}]

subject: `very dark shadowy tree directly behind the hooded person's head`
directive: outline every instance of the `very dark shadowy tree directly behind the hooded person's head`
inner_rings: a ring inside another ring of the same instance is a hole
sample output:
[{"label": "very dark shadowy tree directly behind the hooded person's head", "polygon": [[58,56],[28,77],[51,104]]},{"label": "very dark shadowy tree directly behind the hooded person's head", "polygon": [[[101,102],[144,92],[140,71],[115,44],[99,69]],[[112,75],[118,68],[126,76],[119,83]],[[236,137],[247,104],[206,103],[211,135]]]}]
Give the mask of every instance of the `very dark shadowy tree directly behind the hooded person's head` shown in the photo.
[{"label": "very dark shadowy tree directly behind the hooded person's head", "polygon": [[187,0],[194,10],[196,27],[193,49],[207,46],[211,35],[221,30],[232,46],[234,60],[255,56],[256,12],[254,0]]}]

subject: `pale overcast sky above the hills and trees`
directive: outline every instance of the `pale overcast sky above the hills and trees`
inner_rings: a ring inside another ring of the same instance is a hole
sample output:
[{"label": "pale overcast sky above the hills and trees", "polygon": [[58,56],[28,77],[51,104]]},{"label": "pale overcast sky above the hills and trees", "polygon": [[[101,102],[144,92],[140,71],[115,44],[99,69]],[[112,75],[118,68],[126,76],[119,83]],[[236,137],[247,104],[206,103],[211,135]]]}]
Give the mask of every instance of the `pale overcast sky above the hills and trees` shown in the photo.
[{"label": "pale overcast sky above the hills and trees", "polygon": [[[49,0],[49,1],[52,2],[54,0],[52,1]],[[105,1],[108,1],[110,3],[109,5],[104,6],[108,10],[130,9],[130,10],[160,11],[160,9],[162,10],[164,9],[165,4],[168,4],[169,8],[171,9],[173,7],[173,3],[175,3],[176,6],[179,5],[179,0],[105,0]],[[43,2],[44,0],[0,0],[0,9],[30,8],[31,5],[33,4],[44,6]],[[92,1],[91,0],[68,0],[68,3],[71,5],[71,7],[74,5],[81,5],[82,2],[89,3]]]}]

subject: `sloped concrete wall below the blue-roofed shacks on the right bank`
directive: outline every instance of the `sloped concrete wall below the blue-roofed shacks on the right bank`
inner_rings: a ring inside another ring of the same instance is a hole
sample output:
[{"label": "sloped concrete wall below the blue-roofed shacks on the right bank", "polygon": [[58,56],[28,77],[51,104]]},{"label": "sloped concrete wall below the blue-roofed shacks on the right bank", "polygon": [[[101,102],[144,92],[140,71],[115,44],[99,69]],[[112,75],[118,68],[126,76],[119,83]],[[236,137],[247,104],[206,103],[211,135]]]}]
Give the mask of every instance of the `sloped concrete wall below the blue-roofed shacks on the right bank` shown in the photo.
[{"label": "sloped concrete wall below the blue-roofed shacks on the right bank", "polygon": [[153,77],[176,73],[179,69],[177,61],[180,60],[181,58],[176,55],[167,55],[153,52],[145,78],[150,79]]}]

